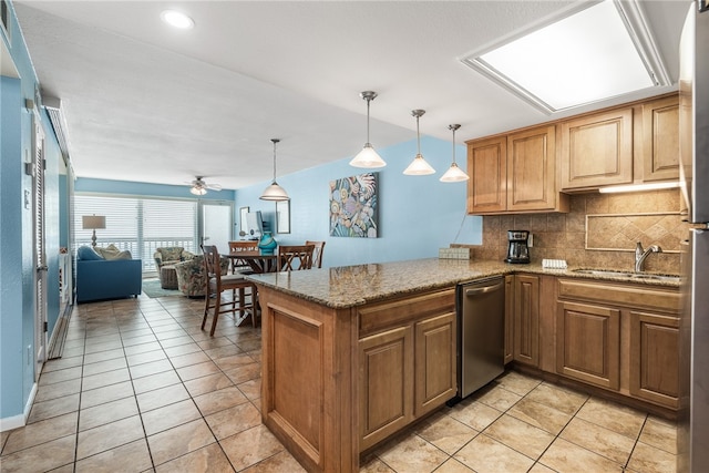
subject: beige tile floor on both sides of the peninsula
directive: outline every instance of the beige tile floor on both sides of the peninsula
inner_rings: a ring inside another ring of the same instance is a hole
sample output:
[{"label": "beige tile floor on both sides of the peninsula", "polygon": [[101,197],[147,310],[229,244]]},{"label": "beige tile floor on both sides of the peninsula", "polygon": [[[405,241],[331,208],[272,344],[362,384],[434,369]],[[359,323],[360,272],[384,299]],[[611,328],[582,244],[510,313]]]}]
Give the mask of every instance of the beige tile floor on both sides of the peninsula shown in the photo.
[{"label": "beige tile floor on both sides of the peninsula", "polygon": [[[141,296],[75,308],[2,472],[298,472],[260,422],[260,330],[203,302]],[[508,372],[362,459],[364,472],[675,472],[676,428]]]}]

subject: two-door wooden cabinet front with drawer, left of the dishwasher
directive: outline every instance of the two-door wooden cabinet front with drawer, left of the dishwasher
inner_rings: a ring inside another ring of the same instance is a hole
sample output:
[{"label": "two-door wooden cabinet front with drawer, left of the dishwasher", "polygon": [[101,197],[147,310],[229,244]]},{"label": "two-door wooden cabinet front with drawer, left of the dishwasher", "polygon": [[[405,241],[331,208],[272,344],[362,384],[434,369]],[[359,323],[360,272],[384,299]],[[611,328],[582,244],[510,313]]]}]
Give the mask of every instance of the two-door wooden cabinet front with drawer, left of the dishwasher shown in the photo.
[{"label": "two-door wooden cabinet front with drawer, left of the dishwasher", "polygon": [[364,451],[455,397],[455,291],[363,306],[359,312]]}]

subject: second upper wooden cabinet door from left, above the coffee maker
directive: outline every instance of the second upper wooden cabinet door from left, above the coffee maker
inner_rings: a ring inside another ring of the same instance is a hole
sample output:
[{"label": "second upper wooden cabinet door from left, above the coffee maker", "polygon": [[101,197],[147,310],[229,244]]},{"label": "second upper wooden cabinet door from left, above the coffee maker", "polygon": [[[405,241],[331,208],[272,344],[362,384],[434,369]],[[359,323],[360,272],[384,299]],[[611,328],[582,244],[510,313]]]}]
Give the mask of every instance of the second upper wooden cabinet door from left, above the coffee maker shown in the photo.
[{"label": "second upper wooden cabinet door from left, above the coffee maker", "polygon": [[545,210],[556,205],[556,127],[507,136],[507,210]]}]

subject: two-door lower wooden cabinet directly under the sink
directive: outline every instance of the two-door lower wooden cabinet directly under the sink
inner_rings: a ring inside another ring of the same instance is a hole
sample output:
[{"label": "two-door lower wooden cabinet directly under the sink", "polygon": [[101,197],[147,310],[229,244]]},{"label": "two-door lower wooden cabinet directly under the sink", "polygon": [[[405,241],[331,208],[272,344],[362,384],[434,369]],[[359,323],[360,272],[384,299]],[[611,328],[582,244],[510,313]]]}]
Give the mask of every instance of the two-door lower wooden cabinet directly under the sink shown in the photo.
[{"label": "two-door lower wooden cabinet directly under the sink", "polygon": [[679,408],[677,289],[558,279],[556,372]]}]

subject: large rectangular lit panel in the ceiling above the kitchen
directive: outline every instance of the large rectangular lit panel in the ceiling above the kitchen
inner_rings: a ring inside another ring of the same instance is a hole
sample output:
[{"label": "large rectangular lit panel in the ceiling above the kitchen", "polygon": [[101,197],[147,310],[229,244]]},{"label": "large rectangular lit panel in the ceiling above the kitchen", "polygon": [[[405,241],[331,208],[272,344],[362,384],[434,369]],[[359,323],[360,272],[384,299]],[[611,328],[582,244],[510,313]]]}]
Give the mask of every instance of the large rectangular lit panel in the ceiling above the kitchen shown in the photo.
[{"label": "large rectangular lit panel in the ceiling above the kitchen", "polygon": [[595,3],[462,61],[545,113],[670,84],[634,1]]}]

